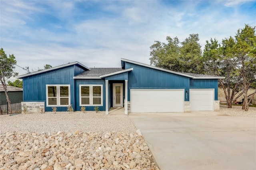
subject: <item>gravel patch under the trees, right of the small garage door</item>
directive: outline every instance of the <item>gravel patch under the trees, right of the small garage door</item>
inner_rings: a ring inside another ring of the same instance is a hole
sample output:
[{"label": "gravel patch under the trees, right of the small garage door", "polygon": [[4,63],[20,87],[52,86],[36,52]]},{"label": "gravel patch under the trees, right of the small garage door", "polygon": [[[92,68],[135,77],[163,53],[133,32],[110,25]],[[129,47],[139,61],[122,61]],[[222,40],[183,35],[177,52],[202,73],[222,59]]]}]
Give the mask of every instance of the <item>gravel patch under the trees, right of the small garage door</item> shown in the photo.
[{"label": "gravel patch under the trees, right of the small garage door", "polygon": [[249,111],[244,111],[242,110],[242,106],[228,108],[227,105],[220,105],[219,115],[256,117],[256,107],[249,107]]}]

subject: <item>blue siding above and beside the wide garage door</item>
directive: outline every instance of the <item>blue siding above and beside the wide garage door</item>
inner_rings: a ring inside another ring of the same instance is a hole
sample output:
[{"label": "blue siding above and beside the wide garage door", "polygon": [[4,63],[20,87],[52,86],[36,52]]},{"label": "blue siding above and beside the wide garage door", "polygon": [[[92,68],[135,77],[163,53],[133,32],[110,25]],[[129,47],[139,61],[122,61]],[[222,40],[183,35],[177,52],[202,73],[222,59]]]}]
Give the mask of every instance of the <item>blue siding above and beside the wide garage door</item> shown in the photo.
[{"label": "blue siding above and beside the wide garage door", "polygon": [[[128,74],[128,101],[130,89],[184,89],[189,90],[190,78],[156,70],[133,63],[125,63],[125,69],[133,68]],[[189,94],[184,94],[185,101],[189,101]]]}]

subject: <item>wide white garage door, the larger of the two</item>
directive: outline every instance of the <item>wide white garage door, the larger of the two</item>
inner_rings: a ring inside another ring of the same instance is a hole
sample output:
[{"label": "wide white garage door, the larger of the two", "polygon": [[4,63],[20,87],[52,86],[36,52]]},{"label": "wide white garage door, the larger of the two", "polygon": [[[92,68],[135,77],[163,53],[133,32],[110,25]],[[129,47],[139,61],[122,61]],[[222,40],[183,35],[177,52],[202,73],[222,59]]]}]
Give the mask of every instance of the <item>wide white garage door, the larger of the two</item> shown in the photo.
[{"label": "wide white garage door, the larger of the two", "polygon": [[130,108],[140,112],[184,112],[184,89],[131,89]]}]

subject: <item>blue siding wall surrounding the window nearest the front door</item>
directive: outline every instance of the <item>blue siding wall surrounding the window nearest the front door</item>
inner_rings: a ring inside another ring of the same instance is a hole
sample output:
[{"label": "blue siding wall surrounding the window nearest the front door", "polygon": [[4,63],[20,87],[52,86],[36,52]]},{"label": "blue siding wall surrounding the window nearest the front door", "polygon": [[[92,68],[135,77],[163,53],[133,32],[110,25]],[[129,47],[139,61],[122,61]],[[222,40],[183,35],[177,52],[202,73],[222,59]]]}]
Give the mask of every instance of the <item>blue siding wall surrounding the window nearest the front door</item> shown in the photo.
[{"label": "blue siding wall surrounding the window nearest the front door", "polygon": [[[103,106],[99,106],[99,109],[100,111],[105,111],[106,110],[106,99],[105,99],[105,94],[106,94],[106,87],[105,87],[105,80],[102,80],[102,79],[75,79],[75,88],[77,89],[76,90],[76,93],[75,93],[75,96],[76,98],[74,99],[74,101],[76,102],[75,103],[75,107],[74,109],[76,111],[80,111],[80,108],[81,106],[80,103],[79,103],[79,98],[80,98],[80,94],[79,94],[79,85],[80,84],[99,84],[99,85],[103,85],[102,86],[102,90],[103,90]],[[94,111],[94,107],[95,106],[86,106],[86,110],[87,111]]]}]

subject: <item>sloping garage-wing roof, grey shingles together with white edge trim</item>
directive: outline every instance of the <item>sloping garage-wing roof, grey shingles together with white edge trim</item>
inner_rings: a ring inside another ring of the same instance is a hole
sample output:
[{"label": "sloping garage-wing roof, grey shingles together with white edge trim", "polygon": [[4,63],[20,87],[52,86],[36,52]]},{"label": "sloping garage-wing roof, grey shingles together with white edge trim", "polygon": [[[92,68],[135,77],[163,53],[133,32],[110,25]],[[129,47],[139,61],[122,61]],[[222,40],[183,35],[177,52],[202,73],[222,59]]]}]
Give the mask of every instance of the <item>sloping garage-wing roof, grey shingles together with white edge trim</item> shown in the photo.
[{"label": "sloping garage-wing roof, grey shingles together with white edge trim", "polygon": [[176,72],[176,71],[166,70],[164,68],[159,68],[159,67],[156,67],[156,66],[151,66],[151,65],[148,65],[148,64],[143,64],[143,63],[139,63],[139,62],[136,62],[136,61],[127,60],[127,59],[121,59],[121,61],[125,61],[125,62],[128,62],[128,63],[133,63],[133,64],[137,64],[137,65],[145,66],[145,67],[149,67],[149,68],[154,68],[156,70],[170,72],[170,73],[173,73],[173,74],[178,74],[178,75],[181,75],[181,76],[185,76],[185,77],[189,77],[189,78],[194,78],[194,79],[224,79],[225,78],[225,77],[222,77],[222,76],[212,76],[212,75],[205,75],[205,74],[194,74],[194,73]]}]

